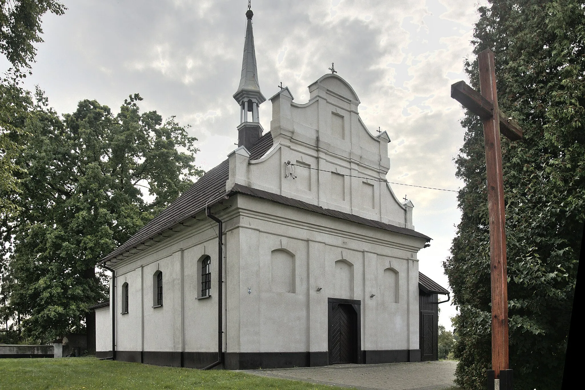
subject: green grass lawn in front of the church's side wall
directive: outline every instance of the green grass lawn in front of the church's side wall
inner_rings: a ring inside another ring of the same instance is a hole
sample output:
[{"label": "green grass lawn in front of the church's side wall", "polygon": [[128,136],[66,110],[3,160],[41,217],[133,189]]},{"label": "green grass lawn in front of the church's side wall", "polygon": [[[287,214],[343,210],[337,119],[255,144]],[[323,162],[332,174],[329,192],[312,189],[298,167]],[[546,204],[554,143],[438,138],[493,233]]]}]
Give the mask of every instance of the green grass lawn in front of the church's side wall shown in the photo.
[{"label": "green grass lawn in front of the church's side wall", "polygon": [[0,389],[342,389],[243,372],[158,367],[95,357],[0,359]]}]

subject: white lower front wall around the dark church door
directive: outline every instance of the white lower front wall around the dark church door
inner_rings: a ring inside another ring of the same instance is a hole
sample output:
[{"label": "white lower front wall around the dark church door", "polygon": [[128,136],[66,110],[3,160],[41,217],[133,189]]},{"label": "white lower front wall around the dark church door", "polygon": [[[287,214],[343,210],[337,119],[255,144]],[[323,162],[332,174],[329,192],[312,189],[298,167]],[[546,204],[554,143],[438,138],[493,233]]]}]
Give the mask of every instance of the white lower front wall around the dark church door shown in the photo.
[{"label": "white lower front wall around the dark church door", "polygon": [[[228,237],[240,243],[239,284],[229,284],[228,305],[238,294],[240,319],[228,322],[228,351],[326,352],[328,298],[362,302],[364,350],[418,350],[418,316],[409,313],[418,313],[416,253],[424,240],[246,196],[238,206]],[[271,285],[271,253],[281,250],[295,258],[294,293]],[[385,275],[395,275],[391,294]]]}]

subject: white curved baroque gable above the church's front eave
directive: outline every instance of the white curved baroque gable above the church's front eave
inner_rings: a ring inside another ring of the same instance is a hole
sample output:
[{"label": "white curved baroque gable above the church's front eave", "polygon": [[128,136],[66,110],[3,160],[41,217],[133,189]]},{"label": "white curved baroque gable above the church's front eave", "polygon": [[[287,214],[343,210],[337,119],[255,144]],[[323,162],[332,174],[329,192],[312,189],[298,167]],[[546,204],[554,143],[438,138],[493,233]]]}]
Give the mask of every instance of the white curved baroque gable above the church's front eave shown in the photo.
[{"label": "white curved baroque gable above the church's front eave", "polygon": [[[309,85],[305,104],[288,88],[270,100],[274,146],[259,160],[229,156],[230,180],[323,208],[412,226],[412,207],[398,201],[385,181],[390,170],[386,132],[374,137],[364,126],[352,87],[335,74]],[[335,123],[342,123],[339,129]],[[239,158],[237,172],[235,160]],[[297,166],[287,165],[287,161]],[[309,169],[310,168],[310,169]],[[237,177],[237,178],[236,178]]]}]

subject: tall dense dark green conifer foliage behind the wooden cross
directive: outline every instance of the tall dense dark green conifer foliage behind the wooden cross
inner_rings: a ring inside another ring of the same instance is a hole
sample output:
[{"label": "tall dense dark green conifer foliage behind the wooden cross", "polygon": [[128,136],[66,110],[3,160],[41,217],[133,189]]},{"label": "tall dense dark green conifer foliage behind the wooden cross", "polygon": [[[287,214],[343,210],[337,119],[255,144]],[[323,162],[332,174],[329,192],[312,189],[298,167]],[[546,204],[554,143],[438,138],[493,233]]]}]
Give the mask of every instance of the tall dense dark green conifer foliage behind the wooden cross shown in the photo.
[{"label": "tall dense dark green conifer foliage behind the wooden cross", "polygon": [[[585,220],[585,6],[490,0],[474,53],[495,53],[500,108],[524,129],[503,138],[510,368],[518,389],[556,389],[565,360]],[[477,61],[466,63],[479,89]],[[457,384],[484,386],[491,367],[489,226],[483,129],[466,115],[456,158],[462,220],[445,263],[459,314]]]}]

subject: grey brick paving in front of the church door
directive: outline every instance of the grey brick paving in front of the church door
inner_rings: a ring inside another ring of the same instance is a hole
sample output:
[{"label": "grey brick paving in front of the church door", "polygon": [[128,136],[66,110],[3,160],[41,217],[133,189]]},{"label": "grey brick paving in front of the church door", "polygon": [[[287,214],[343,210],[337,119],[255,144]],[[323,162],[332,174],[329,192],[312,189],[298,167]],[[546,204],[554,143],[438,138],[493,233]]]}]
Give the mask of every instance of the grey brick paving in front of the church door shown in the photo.
[{"label": "grey brick paving in front of the church door", "polygon": [[454,386],[456,365],[455,361],[425,361],[421,363],[339,364],[325,367],[245,370],[245,372],[358,389],[441,390]]}]

